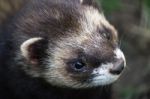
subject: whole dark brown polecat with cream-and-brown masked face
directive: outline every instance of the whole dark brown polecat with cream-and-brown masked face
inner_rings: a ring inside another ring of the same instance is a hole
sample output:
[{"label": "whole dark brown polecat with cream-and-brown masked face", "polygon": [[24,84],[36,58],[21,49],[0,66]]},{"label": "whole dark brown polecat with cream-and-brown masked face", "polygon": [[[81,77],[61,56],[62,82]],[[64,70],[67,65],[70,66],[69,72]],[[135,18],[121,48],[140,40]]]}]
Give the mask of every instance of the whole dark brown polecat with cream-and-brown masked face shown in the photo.
[{"label": "whole dark brown polecat with cream-and-brown masked face", "polygon": [[102,88],[125,66],[117,32],[93,0],[33,0],[7,33],[3,99],[110,99]]}]

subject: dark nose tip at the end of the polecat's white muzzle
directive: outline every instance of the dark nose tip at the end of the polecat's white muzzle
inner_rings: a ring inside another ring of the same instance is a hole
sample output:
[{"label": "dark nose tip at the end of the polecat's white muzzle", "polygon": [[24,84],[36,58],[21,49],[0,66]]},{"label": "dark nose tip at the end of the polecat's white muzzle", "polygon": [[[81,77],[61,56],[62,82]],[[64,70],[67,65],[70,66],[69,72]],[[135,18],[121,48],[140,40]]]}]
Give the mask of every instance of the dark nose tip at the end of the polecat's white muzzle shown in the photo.
[{"label": "dark nose tip at the end of the polecat's white muzzle", "polygon": [[119,75],[124,69],[124,61],[119,59],[114,63],[114,66],[110,69],[110,73],[114,75]]}]

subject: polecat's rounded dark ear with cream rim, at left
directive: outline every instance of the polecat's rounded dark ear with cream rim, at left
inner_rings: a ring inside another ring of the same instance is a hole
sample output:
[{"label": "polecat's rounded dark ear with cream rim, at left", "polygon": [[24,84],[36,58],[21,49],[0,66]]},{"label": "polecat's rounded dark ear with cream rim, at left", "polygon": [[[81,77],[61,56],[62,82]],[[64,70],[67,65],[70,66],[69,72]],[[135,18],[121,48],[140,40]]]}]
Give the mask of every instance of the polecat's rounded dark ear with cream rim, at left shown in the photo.
[{"label": "polecat's rounded dark ear with cream rim, at left", "polygon": [[21,54],[31,64],[37,65],[46,54],[47,43],[48,41],[41,37],[30,38],[21,44]]}]

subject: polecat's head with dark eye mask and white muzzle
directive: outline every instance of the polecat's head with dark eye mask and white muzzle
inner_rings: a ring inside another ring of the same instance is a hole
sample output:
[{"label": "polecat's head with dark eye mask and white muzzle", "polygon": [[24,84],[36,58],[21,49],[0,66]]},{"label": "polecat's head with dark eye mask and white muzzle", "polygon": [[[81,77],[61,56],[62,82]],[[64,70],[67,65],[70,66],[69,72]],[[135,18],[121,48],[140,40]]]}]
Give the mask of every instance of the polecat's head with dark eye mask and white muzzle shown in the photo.
[{"label": "polecat's head with dark eye mask and white muzzle", "polygon": [[16,32],[24,38],[20,52],[26,73],[71,88],[102,86],[118,79],[125,58],[118,48],[117,31],[102,12],[85,2],[91,0],[79,1],[45,0],[18,18]]}]

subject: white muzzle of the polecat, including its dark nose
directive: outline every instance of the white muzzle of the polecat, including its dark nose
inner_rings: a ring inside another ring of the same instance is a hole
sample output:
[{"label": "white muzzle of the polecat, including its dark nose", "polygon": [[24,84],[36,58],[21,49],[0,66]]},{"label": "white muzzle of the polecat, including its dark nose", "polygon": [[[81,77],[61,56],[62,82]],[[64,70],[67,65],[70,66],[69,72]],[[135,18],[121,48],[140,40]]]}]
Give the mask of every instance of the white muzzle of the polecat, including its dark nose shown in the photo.
[{"label": "white muzzle of the polecat, including its dark nose", "polygon": [[126,61],[123,52],[120,49],[114,51],[115,62],[101,64],[98,68],[95,68],[92,73],[92,77],[89,81],[95,85],[107,85],[116,81],[126,66]]}]

